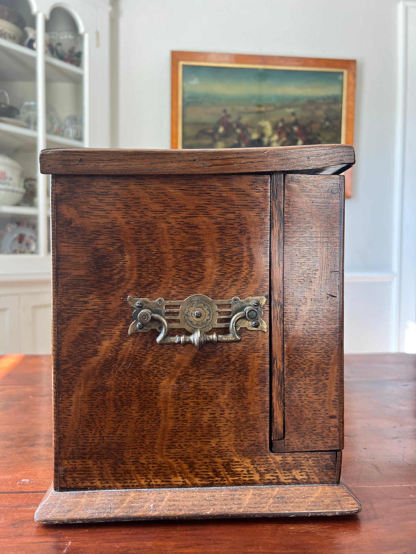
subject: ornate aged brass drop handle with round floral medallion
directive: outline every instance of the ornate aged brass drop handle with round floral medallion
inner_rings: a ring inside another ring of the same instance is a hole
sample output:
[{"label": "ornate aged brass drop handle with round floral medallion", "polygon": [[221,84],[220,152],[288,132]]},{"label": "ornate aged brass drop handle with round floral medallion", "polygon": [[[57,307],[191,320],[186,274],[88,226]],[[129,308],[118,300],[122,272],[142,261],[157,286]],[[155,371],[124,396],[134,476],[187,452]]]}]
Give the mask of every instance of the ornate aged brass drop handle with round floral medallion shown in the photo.
[{"label": "ornate aged brass drop handle with round floral medallion", "polygon": [[[233,296],[231,300],[212,300],[204,294],[192,294],[185,300],[165,301],[158,298],[151,301],[133,296],[127,300],[133,308],[134,319],[129,335],[155,329],[160,331],[156,338],[159,345],[192,344],[201,350],[207,342],[240,342],[239,330],[242,327],[267,332],[266,322],[262,319],[262,307],[267,295],[248,296],[245,300],[240,300],[238,296]],[[214,327],[229,327],[229,333],[207,334]],[[170,329],[186,329],[192,334],[169,335]]]}]

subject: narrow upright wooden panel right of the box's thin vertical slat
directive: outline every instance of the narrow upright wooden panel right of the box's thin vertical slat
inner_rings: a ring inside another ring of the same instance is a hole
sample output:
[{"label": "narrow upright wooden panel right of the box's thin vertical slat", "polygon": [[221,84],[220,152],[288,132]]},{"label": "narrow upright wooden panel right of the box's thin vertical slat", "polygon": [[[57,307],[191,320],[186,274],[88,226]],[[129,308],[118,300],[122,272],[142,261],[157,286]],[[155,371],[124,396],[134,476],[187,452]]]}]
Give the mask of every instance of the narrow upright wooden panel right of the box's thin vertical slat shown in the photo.
[{"label": "narrow upright wooden panel right of the box's thin vertical slat", "polygon": [[285,177],[285,452],[343,448],[342,176]]}]

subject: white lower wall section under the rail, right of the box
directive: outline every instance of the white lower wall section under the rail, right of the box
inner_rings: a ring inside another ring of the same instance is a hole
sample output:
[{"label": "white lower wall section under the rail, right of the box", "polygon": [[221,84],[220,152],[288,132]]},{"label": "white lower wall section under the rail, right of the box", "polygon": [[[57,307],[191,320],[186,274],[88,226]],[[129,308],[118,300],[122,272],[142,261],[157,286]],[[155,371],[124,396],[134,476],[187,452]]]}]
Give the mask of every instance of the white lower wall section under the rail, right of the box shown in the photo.
[{"label": "white lower wall section under the rail, right of the box", "polygon": [[391,352],[393,280],[344,284],[344,351]]}]

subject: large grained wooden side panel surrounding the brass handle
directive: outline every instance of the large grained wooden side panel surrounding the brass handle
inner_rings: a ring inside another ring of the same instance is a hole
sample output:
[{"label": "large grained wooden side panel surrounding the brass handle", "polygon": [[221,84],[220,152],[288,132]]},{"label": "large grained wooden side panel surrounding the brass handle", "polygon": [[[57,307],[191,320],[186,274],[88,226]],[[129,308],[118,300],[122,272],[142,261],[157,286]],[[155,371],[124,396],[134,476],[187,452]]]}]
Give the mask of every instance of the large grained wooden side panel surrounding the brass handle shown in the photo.
[{"label": "large grained wooden side panel surrounding the brass handle", "polygon": [[284,481],[268,332],[200,351],[128,335],[128,295],[268,295],[270,176],[57,176],[53,200],[55,485]]}]

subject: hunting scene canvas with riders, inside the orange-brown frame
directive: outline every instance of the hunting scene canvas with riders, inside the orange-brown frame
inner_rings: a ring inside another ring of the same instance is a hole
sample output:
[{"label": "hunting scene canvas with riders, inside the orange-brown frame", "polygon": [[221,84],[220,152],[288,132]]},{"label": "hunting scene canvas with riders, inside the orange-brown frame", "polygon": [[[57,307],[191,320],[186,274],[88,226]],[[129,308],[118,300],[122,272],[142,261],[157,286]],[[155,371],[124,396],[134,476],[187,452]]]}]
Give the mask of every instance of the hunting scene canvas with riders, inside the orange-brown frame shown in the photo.
[{"label": "hunting scene canvas with riders, inside the orange-brown frame", "polygon": [[182,148],[343,142],[342,70],[182,64]]}]

